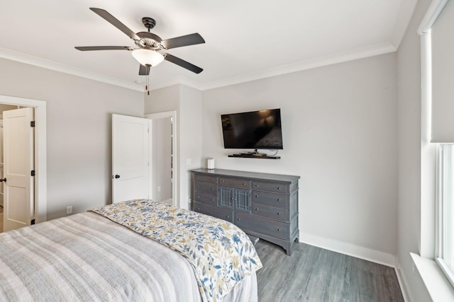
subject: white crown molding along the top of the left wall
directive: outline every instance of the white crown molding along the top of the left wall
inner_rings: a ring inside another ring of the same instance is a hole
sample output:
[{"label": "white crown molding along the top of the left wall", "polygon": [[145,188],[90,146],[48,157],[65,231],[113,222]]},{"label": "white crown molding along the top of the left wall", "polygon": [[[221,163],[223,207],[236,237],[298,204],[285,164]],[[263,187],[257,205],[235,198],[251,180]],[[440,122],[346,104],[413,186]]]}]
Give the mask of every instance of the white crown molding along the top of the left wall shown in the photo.
[{"label": "white crown molding along the top of the left wall", "polygon": [[15,52],[13,50],[6,50],[5,48],[0,47],[0,57],[4,59],[10,59],[12,61],[21,62],[30,64],[33,66],[43,67],[45,69],[50,69],[54,71],[60,71],[65,74],[72,74],[74,76],[80,76],[82,78],[92,79],[94,81],[99,81],[103,83],[108,83],[114,86],[120,86],[123,88],[128,88],[134,91],[143,91],[143,86],[136,83],[129,83],[127,81],[121,81],[118,79],[111,78],[109,76],[103,76],[101,74],[96,74],[91,71],[84,69],[75,68],[65,64],[59,64],[52,62],[47,59],[42,59],[38,57],[33,57],[29,54],[23,54],[22,52]]}]

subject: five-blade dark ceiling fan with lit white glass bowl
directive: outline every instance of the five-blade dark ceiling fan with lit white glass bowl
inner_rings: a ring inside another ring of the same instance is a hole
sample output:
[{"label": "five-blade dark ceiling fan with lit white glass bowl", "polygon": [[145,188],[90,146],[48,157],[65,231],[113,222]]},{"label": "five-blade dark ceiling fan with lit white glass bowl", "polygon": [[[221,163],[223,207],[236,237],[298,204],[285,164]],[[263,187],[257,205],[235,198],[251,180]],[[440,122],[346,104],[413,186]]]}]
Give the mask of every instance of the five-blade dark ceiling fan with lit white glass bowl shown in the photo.
[{"label": "five-blade dark ceiling fan with lit white glass bowl", "polygon": [[161,50],[170,50],[176,47],[204,43],[204,38],[198,33],[162,40],[157,35],[150,33],[150,29],[154,28],[156,25],[156,21],[153,18],[142,18],[142,23],[145,28],[148,28],[148,32],[134,33],[126,27],[126,25],[118,21],[117,18],[104,9],[93,7],[90,9],[130,37],[138,48],[129,46],[78,46],[74,47],[76,50],[129,50],[132,52],[133,57],[140,63],[140,76],[148,76],[148,74],[150,74],[150,68],[160,64],[160,62],[164,60],[177,64],[178,66],[182,66],[183,68],[196,74],[200,74],[201,71],[204,70],[199,66],[195,66],[194,64],[184,61],[184,59],[180,59],[179,57],[175,57],[172,54],[160,53]]}]

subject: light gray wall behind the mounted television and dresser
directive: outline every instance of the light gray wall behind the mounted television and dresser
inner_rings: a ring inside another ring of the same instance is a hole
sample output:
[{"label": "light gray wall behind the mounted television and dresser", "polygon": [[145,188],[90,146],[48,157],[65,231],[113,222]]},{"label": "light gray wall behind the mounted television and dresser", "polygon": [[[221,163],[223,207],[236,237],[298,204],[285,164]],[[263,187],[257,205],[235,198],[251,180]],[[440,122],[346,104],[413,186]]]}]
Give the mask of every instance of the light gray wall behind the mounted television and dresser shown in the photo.
[{"label": "light gray wall behind the mounted television and dresser", "polygon": [[[394,265],[397,252],[395,54],[203,93],[203,157],[216,168],[299,175],[300,240]],[[281,108],[279,160],[228,158],[223,113]],[[359,251],[358,251],[359,250]]]}]

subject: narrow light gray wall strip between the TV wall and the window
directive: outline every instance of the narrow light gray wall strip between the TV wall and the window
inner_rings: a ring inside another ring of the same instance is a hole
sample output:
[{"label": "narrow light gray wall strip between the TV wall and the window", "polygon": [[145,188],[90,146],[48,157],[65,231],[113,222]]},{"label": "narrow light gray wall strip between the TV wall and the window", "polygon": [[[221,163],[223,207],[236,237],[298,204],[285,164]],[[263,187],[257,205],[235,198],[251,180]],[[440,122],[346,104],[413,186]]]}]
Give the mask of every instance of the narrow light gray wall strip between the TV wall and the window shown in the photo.
[{"label": "narrow light gray wall strip between the TV wall and the window", "polygon": [[414,16],[397,52],[399,131],[399,216],[397,259],[414,301],[431,301],[409,252],[421,244],[421,52],[416,33],[430,0],[416,4]]}]

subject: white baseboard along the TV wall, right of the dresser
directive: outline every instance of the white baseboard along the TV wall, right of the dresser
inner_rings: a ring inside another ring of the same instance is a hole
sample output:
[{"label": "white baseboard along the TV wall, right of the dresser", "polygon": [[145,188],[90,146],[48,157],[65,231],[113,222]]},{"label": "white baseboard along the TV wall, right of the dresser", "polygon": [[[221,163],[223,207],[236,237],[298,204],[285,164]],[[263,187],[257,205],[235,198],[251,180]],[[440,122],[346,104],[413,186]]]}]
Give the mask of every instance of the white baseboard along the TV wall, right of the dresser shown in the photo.
[{"label": "white baseboard along the TV wall, right of the dresser", "polygon": [[319,236],[314,236],[308,233],[299,233],[299,241],[309,245],[314,245],[333,252],[340,252],[341,254],[357,257],[363,260],[386,265],[388,267],[396,267],[396,259],[392,254],[387,252],[380,252],[378,250],[371,250],[369,248],[362,248],[358,245],[350,243],[343,243],[337,240],[331,240]]}]

